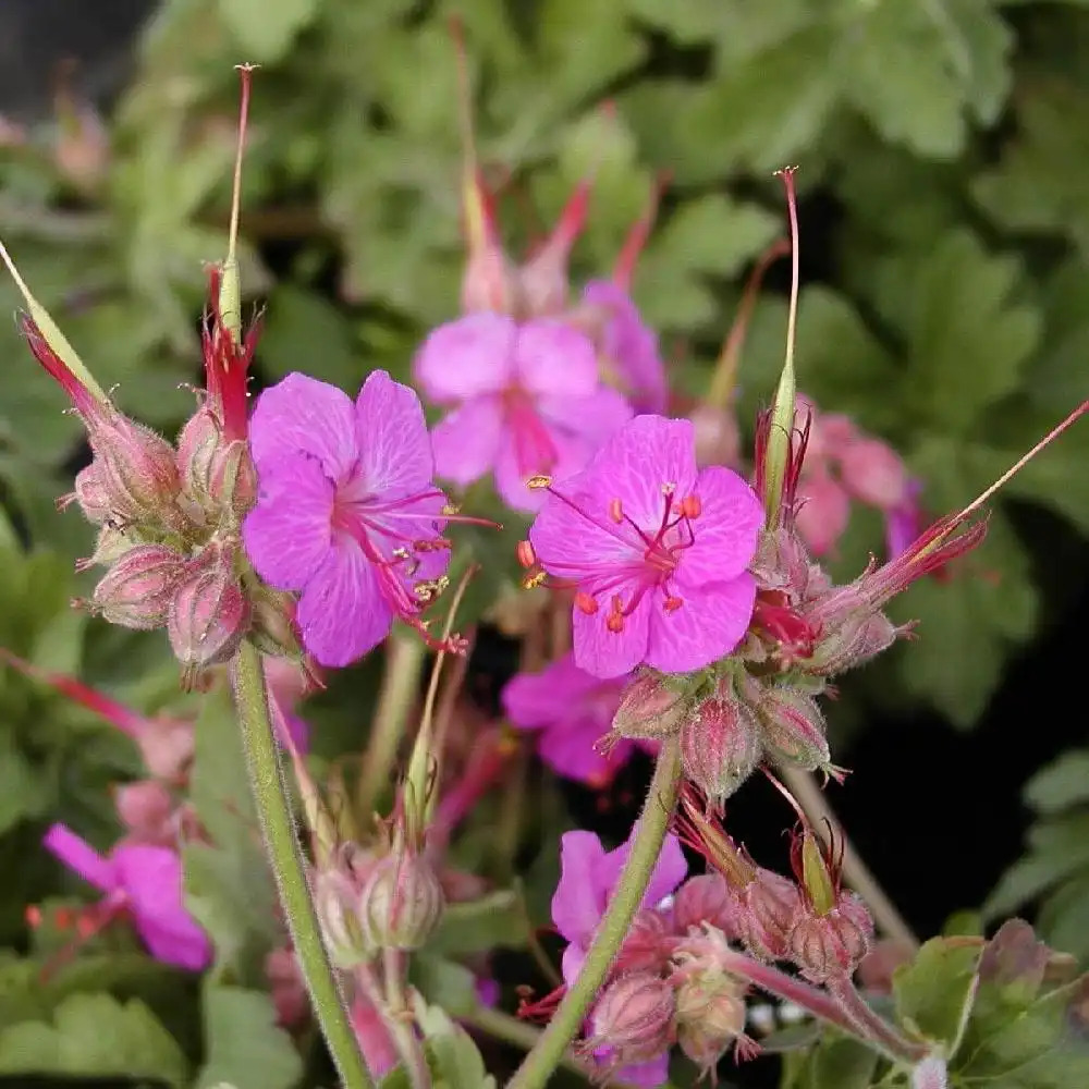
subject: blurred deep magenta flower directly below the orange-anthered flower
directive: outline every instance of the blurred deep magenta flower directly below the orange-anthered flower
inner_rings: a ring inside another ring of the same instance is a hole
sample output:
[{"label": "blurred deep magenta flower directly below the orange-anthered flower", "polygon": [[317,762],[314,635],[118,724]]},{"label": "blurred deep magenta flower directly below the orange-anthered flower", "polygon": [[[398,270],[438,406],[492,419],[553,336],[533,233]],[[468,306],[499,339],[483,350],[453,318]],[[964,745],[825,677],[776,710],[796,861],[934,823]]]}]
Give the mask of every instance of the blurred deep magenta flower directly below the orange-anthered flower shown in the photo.
[{"label": "blurred deep magenta flower directly below the orange-anthered flower", "polygon": [[632,750],[627,741],[608,756],[595,748],[609,733],[623,688],[623,680],[601,681],[564,654],[541,673],[514,677],[503,689],[503,709],[512,725],[540,731],[537,751],[554,772],[604,786]]}]

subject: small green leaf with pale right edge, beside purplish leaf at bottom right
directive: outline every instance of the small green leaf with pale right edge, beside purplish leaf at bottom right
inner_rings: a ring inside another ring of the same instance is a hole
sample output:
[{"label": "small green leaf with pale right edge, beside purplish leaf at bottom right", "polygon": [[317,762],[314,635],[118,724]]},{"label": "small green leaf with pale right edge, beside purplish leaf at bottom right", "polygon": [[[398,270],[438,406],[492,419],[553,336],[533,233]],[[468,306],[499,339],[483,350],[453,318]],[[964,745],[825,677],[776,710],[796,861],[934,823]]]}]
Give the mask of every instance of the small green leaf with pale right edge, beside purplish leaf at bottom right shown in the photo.
[{"label": "small green leaf with pale right edge, beside purplish leaf at bottom right", "polygon": [[971,1013],[981,952],[970,939],[932,938],[893,972],[897,1020],[946,1056],[956,1052]]}]

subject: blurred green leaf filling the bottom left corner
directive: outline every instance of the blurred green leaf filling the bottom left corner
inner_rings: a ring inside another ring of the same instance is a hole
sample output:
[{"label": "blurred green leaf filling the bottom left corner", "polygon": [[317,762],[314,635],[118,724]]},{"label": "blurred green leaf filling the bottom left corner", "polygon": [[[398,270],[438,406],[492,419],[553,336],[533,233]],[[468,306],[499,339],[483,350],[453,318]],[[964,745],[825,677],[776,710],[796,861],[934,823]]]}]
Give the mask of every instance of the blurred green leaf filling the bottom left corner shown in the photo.
[{"label": "blurred green leaf filling the bottom left corner", "polygon": [[142,1002],[73,994],[51,1023],[0,1030],[0,1074],[150,1078],[187,1084],[185,1056]]}]

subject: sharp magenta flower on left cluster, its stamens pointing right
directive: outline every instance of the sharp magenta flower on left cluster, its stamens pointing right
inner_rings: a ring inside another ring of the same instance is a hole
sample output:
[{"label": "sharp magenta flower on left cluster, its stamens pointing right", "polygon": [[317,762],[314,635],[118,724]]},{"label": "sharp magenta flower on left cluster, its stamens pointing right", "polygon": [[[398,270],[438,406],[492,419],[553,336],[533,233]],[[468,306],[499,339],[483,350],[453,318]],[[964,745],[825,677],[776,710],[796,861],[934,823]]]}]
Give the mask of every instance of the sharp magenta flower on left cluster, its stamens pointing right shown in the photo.
[{"label": "sharp magenta flower on left cluster, its stamens pointing right", "polygon": [[257,573],[299,591],[297,623],[323,665],[346,665],[419,612],[446,568],[446,499],[419,400],[376,370],[353,405],[289,375],[249,421],[257,505],[243,538]]}]

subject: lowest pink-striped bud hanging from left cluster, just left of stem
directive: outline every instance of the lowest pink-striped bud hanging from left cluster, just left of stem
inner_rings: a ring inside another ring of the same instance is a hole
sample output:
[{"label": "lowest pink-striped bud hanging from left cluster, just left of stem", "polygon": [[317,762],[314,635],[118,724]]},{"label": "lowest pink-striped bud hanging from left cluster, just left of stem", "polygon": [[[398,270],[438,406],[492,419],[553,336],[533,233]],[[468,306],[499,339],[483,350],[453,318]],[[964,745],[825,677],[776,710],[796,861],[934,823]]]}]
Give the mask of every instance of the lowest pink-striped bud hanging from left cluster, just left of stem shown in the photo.
[{"label": "lowest pink-striped bud hanging from left cluster, just left of stem", "polygon": [[230,549],[209,544],[193,560],[170,602],[170,645],[187,672],[225,662],[249,627],[249,601],[242,592]]}]

